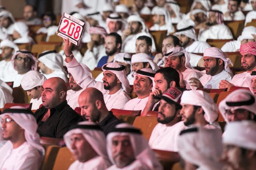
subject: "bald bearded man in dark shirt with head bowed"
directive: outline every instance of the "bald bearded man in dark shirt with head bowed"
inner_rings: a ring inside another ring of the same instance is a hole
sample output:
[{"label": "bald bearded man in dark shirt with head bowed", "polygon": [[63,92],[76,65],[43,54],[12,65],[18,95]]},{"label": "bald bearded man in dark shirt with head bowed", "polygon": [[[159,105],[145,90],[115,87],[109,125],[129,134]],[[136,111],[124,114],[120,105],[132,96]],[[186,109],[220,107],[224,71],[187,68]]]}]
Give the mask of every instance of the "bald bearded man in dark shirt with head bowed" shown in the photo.
[{"label": "bald bearded man in dark shirt with head bowed", "polygon": [[97,122],[107,135],[118,123],[121,123],[111,111],[108,111],[103,94],[96,88],[85,89],[78,98],[81,115],[88,121]]}]

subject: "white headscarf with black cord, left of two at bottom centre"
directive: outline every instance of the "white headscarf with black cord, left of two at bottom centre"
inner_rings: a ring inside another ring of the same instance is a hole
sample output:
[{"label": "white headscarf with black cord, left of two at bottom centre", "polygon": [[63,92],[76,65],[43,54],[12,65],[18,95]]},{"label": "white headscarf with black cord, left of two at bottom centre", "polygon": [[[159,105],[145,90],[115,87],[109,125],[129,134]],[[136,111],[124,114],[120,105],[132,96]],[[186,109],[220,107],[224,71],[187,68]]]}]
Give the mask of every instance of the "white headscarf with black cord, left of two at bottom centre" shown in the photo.
[{"label": "white headscarf with black cord, left of two at bottom centre", "polygon": [[108,159],[108,154],[106,150],[106,137],[100,127],[94,122],[79,122],[77,125],[73,125],[71,130],[69,130],[64,136],[64,142],[68,149],[73,153],[72,140],[73,134],[82,134],[86,141],[91,145],[94,151],[104,159]]}]

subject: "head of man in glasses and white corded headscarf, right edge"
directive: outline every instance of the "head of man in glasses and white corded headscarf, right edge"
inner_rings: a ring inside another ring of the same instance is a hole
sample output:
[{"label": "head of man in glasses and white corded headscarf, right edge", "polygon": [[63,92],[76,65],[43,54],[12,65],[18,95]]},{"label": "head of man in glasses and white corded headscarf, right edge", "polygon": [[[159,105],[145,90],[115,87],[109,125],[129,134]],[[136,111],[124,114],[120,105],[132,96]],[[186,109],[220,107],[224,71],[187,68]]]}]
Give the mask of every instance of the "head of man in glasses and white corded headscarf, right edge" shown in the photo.
[{"label": "head of man in glasses and white corded headscarf, right edge", "polygon": [[231,92],[219,104],[220,113],[227,123],[242,120],[256,121],[255,108],[255,97],[246,89]]}]

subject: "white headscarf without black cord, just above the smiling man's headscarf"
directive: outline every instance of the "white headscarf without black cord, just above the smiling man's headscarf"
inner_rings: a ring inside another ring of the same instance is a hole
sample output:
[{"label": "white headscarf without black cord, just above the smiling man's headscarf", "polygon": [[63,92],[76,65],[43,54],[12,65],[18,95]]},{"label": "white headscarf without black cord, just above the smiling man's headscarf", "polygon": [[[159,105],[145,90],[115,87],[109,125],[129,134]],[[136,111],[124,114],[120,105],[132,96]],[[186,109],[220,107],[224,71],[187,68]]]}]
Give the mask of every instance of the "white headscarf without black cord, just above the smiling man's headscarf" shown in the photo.
[{"label": "white headscarf without black cord, just above the smiling man's headscarf", "polygon": [[139,63],[139,62],[148,62],[152,70],[157,71],[159,69],[158,65],[155,62],[153,62],[152,57],[150,57],[146,53],[138,53],[138,54],[132,55],[132,63]]}]

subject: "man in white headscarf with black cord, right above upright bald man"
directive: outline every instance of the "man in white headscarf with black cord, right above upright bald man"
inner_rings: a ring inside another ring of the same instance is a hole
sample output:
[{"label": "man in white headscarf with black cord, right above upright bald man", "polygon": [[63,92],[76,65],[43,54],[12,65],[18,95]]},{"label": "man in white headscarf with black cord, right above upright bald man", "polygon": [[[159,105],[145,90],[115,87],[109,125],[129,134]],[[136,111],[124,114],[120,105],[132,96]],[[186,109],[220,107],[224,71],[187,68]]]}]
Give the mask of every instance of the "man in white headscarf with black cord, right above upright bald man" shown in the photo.
[{"label": "man in white headscarf with black cord, right above upright bald man", "polygon": [[55,50],[44,51],[38,56],[38,67],[42,74],[47,78],[59,77],[68,82],[67,73],[63,67],[63,58]]}]

